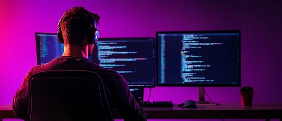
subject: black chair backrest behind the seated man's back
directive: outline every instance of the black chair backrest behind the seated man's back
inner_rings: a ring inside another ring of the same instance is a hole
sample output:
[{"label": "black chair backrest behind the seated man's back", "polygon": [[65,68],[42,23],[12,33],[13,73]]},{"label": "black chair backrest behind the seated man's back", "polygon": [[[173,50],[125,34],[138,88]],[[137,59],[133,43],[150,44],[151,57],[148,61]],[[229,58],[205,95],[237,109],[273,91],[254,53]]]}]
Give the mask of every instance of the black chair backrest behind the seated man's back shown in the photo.
[{"label": "black chair backrest behind the seated man's back", "polygon": [[29,121],[114,120],[97,73],[44,71],[29,79]]}]

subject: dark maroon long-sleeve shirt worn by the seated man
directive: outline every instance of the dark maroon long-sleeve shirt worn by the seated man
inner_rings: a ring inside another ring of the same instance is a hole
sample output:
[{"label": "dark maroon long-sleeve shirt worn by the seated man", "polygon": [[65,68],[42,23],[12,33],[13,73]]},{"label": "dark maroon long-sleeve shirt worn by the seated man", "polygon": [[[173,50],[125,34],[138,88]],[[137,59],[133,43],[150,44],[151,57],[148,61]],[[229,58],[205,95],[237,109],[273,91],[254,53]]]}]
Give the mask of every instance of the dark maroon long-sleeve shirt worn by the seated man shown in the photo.
[{"label": "dark maroon long-sleeve shirt worn by the seated man", "polygon": [[104,69],[90,62],[85,57],[63,56],[44,65],[34,66],[24,77],[22,86],[17,90],[13,100],[13,112],[16,117],[26,119],[28,114],[28,79],[31,75],[47,70],[88,70],[101,77],[109,107],[117,109],[125,120],[147,120],[146,112],[131,94],[127,81],[114,70]]}]

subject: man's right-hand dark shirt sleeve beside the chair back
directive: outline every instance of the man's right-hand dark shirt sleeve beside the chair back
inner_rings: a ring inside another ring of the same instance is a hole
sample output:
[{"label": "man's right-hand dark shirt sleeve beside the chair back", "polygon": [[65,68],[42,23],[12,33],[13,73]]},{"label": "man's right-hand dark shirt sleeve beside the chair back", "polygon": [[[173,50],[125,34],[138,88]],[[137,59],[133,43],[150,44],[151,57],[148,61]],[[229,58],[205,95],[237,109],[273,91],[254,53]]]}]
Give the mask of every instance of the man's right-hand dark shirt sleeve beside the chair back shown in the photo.
[{"label": "man's right-hand dark shirt sleeve beside the chair back", "polygon": [[146,112],[134,99],[125,78],[119,73],[114,77],[116,79],[116,103],[119,114],[124,120],[147,120]]}]

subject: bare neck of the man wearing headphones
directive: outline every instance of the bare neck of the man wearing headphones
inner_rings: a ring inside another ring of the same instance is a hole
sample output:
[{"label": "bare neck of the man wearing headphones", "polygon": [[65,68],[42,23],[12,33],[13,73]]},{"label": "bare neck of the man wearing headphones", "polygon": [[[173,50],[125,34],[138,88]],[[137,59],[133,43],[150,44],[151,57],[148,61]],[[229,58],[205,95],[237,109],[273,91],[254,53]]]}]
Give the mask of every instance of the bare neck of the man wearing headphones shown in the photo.
[{"label": "bare neck of the man wearing headphones", "polygon": [[62,56],[75,56],[88,58],[88,46],[64,45]]}]

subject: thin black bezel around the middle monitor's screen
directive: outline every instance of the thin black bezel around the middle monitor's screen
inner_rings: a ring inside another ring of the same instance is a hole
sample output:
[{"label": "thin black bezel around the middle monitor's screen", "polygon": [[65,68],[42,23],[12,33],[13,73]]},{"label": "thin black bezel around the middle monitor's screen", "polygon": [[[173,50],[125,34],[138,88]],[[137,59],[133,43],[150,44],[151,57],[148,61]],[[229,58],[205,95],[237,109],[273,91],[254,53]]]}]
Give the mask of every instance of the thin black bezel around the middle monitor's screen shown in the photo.
[{"label": "thin black bezel around the middle monitor's screen", "polygon": [[[99,38],[98,42],[101,40],[101,39],[104,39],[104,40],[112,40],[112,39],[153,39],[153,44],[154,44],[154,82],[153,82],[153,85],[151,86],[129,86],[130,88],[145,88],[145,87],[156,87],[156,79],[157,79],[157,73],[156,73],[156,69],[157,69],[157,66],[156,66],[156,39],[155,37],[105,37],[105,38]],[[96,45],[95,45],[96,47]],[[94,60],[94,56],[93,57],[93,60]]]}]

